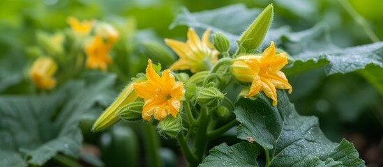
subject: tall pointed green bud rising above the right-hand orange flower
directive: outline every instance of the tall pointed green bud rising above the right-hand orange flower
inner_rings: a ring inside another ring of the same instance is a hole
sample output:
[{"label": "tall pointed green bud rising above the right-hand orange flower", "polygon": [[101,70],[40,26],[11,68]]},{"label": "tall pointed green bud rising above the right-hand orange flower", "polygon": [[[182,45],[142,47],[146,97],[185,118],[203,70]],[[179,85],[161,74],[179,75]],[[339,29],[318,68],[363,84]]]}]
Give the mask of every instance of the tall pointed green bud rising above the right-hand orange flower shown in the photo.
[{"label": "tall pointed green bud rising above the right-hand orange flower", "polygon": [[250,24],[248,29],[242,33],[238,41],[239,49],[246,49],[246,53],[251,53],[257,49],[257,47],[261,45],[272,21],[273,4],[270,4],[258,15],[254,22]]}]

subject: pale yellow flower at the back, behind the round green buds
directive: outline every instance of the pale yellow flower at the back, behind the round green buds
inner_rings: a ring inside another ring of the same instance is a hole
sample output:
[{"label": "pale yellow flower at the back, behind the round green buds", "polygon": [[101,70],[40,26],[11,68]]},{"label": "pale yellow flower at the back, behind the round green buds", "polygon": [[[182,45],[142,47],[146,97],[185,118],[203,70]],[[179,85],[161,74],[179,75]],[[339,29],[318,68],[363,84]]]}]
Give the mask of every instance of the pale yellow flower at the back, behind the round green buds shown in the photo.
[{"label": "pale yellow flower at the back, behind the round green buds", "polygon": [[171,47],[179,56],[170,70],[190,70],[191,72],[200,72],[206,70],[205,61],[210,61],[211,64],[218,61],[219,51],[214,49],[209,41],[210,29],[207,29],[202,36],[202,41],[195,33],[194,29],[188,31],[188,41],[179,42],[177,40],[165,39],[166,45]]}]

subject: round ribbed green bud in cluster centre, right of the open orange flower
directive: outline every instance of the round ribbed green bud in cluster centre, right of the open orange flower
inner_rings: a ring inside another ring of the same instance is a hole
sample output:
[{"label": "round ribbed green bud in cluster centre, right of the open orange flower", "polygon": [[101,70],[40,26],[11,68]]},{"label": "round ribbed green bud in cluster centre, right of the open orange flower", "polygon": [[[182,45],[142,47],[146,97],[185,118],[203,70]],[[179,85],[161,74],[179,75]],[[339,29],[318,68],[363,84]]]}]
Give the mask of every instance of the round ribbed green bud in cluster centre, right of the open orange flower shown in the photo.
[{"label": "round ribbed green bud in cluster centre, right of the open orange flower", "polygon": [[198,93],[197,102],[201,106],[216,107],[222,103],[223,97],[225,94],[221,93],[218,88],[202,88]]}]

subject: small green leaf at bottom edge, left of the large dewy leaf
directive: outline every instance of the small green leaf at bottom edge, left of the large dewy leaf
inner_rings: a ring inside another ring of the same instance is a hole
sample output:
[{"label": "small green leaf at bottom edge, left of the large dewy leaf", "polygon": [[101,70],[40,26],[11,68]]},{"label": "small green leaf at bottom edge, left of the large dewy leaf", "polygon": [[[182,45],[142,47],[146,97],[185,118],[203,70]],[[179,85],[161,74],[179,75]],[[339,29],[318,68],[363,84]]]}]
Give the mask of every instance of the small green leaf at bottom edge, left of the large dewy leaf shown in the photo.
[{"label": "small green leaf at bottom edge, left of the large dewy leaf", "polygon": [[257,156],[260,148],[253,143],[241,142],[228,146],[222,143],[209,151],[200,166],[258,166]]}]

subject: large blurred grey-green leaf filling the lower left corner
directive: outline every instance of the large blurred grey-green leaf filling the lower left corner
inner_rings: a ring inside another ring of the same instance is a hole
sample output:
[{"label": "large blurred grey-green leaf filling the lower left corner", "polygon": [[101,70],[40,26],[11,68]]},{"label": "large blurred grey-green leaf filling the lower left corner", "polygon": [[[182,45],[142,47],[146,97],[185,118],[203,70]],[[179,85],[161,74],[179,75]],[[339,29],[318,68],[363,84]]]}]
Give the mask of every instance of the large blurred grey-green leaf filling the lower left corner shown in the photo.
[{"label": "large blurred grey-green leaf filling the lower left corner", "polygon": [[20,151],[29,164],[38,166],[58,152],[79,157],[78,122],[110,103],[115,78],[89,73],[86,81],[71,81],[52,95],[0,97],[0,150]]}]

